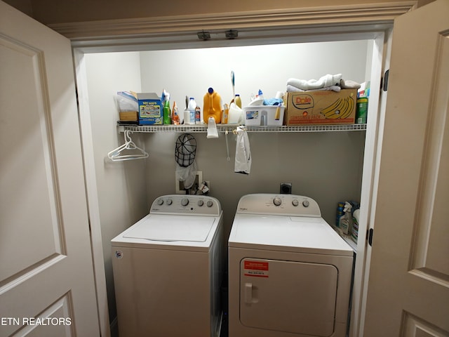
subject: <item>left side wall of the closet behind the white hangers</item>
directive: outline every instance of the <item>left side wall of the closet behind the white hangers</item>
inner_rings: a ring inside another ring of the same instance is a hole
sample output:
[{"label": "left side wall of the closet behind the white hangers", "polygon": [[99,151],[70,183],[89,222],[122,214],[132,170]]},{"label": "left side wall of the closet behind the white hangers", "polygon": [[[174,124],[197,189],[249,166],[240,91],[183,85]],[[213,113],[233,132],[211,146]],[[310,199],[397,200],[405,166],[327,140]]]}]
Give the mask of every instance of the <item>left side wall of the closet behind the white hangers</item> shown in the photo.
[{"label": "left side wall of the closet behind the white hangers", "polygon": [[[116,91],[140,91],[139,53],[86,54],[89,109],[102,231],[109,317],[116,317],[110,240],[147,213],[145,160],[110,162],[107,153],[123,144],[117,133]],[[140,135],[133,141],[143,147]]]}]

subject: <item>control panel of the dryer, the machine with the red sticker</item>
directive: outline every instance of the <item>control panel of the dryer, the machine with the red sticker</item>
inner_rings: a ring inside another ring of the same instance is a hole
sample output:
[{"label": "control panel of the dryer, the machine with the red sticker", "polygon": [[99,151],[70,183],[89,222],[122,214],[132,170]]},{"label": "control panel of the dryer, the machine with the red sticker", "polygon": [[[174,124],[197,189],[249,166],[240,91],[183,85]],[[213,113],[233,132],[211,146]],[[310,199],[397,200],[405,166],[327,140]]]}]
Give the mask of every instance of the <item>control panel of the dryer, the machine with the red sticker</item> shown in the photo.
[{"label": "control panel of the dryer, the machine with the red sticker", "polygon": [[241,197],[236,213],[321,217],[314,199],[295,194],[247,194]]}]

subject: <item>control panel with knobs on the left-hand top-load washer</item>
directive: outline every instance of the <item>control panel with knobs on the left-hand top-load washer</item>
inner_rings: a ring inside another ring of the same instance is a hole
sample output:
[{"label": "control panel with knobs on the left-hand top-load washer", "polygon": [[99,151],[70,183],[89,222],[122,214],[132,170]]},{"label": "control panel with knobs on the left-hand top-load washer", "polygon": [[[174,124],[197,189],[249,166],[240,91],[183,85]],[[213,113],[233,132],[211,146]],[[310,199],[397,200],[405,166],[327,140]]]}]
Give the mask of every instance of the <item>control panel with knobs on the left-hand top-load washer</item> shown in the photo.
[{"label": "control panel with knobs on the left-hand top-load washer", "polygon": [[149,213],[220,216],[220,201],[205,195],[170,194],[157,197]]}]

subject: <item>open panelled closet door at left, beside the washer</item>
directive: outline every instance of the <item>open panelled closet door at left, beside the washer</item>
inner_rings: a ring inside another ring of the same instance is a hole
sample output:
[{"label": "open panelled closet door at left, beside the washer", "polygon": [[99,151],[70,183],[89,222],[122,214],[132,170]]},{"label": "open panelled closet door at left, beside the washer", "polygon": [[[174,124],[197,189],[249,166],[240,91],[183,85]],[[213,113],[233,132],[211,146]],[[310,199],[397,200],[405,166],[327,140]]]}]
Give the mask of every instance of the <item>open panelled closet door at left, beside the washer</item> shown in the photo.
[{"label": "open panelled closet door at left, beside the washer", "polygon": [[0,1],[0,336],[100,336],[70,41]]}]

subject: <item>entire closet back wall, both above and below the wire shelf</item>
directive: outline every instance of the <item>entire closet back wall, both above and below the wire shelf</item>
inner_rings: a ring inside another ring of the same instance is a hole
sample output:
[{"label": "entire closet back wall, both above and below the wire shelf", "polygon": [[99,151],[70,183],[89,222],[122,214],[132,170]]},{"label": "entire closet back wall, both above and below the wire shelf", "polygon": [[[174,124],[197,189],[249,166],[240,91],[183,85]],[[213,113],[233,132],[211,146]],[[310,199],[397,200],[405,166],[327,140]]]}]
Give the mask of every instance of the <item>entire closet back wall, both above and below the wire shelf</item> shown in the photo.
[{"label": "entire closet back wall, both above and below the wire shelf", "polygon": [[[236,93],[243,105],[259,88],[265,98],[286,91],[290,77],[319,79],[324,74],[343,74],[344,79],[366,81],[368,41],[340,41],[276,46],[203,48],[147,51],[141,54],[142,91],[163,88],[171,103],[184,107],[185,95],[202,107],[209,86],[232,100],[230,72],[236,74]],[[147,183],[149,202],[175,189],[175,140],[179,134],[147,135]],[[359,200],[364,132],[249,133],[253,167],[249,176],[234,173],[235,136],[228,136],[231,161],[226,160],[225,135],[207,139],[194,134],[196,163],[203,180],[210,180],[210,194],[220,199],[225,228],[230,230],[237,202],[252,192],[278,193],[280,183],[293,183],[293,193],[316,199],[323,217],[335,221],[338,201]]]}]

